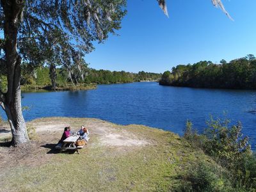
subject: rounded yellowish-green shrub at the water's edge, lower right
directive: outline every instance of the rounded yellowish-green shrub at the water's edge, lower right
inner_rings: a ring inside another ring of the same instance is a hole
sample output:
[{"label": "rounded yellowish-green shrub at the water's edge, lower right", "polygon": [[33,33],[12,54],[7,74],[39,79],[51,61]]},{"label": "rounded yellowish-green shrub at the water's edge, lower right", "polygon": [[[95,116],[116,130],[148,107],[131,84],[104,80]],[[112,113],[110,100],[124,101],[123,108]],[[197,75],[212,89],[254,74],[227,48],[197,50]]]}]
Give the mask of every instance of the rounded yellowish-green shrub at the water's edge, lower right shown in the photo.
[{"label": "rounded yellowish-green shrub at the water's edge, lower right", "polygon": [[242,134],[241,122],[228,127],[229,120],[211,118],[207,124],[208,127],[204,132],[207,138],[203,147],[205,152],[213,156],[222,166],[234,168],[243,154],[251,151],[248,136]]}]

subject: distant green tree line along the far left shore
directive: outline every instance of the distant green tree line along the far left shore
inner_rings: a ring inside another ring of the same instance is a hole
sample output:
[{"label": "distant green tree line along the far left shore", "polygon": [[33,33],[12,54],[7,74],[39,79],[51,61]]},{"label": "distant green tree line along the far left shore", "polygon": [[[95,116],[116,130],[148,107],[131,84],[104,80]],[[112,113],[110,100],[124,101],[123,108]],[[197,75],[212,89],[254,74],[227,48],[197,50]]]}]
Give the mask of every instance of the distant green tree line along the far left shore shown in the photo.
[{"label": "distant green tree line along the far left shore", "polygon": [[[20,84],[27,87],[47,87],[54,90],[56,87],[77,84],[112,84],[112,83],[132,83],[140,81],[159,81],[161,74],[140,71],[138,73],[125,72],[124,70],[118,72],[110,70],[96,70],[88,68],[83,65],[80,70],[72,68],[70,75],[65,67],[55,68],[54,73],[50,66],[32,67],[28,63],[21,65],[21,79]],[[54,74],[54,76],[52,75]],[[7,88],[7,77],[0,74],[0,86],[2,90]]]}]

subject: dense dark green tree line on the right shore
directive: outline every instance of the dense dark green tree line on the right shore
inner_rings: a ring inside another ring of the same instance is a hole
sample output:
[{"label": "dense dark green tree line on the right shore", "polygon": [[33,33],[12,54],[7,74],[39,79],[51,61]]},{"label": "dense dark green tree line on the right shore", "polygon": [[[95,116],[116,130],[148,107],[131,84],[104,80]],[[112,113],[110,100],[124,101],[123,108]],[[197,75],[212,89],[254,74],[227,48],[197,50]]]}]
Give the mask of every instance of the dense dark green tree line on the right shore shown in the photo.
[{"label": "dense dark green tree line on the right shore", "polygon": [[256,88],[256,59],[253,54],[220,64],[199,61],[193,65],[177,65],[163,73],[159,84],[194,88]]}]

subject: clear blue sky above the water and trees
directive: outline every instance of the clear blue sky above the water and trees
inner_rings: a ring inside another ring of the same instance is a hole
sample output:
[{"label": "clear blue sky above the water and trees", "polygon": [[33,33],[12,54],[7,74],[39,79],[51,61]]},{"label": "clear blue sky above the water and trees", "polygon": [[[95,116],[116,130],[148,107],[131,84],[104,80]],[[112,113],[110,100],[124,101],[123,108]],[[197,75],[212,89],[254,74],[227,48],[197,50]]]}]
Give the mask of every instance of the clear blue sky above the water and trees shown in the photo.
[{"label": "clear blue sky above the water and trees", "polygon": [[156,0],[128,0],[119,36],[86,56],[89,67],[164,72],[179,64],[256,55],[256,1],[222,0],[234,21],[211,0],[167,0],[167,18]]}]

